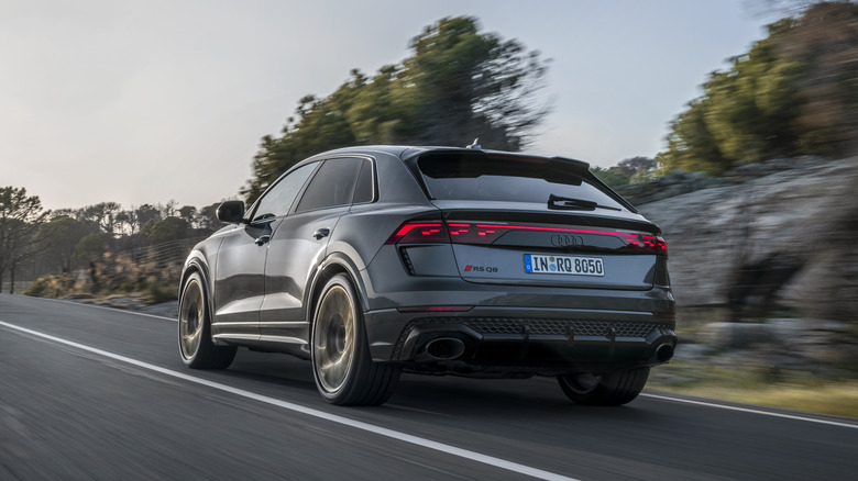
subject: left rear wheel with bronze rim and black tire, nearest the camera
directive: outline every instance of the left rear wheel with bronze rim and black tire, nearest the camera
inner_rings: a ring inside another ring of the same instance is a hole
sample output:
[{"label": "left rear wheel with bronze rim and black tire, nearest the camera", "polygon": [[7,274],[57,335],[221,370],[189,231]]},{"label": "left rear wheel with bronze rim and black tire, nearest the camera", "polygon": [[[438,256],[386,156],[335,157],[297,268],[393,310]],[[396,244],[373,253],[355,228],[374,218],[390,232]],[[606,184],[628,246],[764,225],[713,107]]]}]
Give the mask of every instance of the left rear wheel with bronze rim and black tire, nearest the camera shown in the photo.
[{"label": "left rear wheel with bronze rim and black tire, nearest the camera", "polygon": [[377,405],[393,395],[399,368],[373,362],[354,288],[339,273],[316,305],[310,354],[316,388],[338,405]]}]

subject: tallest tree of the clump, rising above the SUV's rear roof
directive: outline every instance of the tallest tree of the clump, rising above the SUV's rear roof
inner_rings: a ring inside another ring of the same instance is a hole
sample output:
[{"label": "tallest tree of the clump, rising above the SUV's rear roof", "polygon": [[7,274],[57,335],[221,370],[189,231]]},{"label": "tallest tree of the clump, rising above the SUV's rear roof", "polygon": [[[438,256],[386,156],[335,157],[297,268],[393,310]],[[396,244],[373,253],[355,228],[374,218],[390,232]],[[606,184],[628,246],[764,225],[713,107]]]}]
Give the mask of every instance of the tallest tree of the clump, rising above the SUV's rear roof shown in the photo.
[{"label": "tallest tree of the clump, rising above the SUV's rear roof", "polygon": [[413,143],[463,145],[475,137],[518,150],[548,109],[534,93],[548,65],[516,41],[480,34],[472,18],[443,19],[411,40],[400,85],[416,100]]}]

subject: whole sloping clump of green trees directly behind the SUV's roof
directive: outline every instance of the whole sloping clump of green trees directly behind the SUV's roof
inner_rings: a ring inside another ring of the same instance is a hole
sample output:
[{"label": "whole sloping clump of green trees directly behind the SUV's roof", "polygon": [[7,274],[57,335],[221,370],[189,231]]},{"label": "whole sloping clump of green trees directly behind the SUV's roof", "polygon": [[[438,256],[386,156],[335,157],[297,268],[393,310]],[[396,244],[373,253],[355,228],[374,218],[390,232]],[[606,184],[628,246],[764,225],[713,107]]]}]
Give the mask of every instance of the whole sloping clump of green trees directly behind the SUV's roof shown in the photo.
[{"label": "whole sloping clump of green trees directly behind the SUV's roof", "polygon": [[327,98],[305,96],[280,137],[266,135],[242,189],[253,202],[299,160],[354,144],[483,145],[518,150],[549,109],[536,93],[547,61],[517,41],[443,19],[409,44],[411,56],[373,78],[359,70]]}]

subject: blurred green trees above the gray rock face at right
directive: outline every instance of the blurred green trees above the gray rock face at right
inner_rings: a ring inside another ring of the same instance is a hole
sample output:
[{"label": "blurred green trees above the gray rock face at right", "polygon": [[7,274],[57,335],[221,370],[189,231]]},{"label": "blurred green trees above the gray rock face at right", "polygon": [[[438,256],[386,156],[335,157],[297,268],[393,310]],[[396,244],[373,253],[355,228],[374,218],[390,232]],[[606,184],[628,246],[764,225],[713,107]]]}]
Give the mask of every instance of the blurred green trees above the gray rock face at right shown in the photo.
[{"label": "blurred green trees above the gray rock face at right", "polygon": [[661,174],[858,152],[858,4],[813,4],[730,63],[672,122]]}]

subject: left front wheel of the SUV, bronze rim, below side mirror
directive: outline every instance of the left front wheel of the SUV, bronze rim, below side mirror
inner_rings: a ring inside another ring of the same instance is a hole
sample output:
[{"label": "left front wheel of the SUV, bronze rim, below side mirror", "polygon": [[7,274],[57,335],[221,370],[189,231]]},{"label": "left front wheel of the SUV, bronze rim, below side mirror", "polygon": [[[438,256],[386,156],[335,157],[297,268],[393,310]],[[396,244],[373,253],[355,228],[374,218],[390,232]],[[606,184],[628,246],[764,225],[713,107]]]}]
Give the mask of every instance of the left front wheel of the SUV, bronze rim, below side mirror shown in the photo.
[{"label": "left front wheel of the SUV, bronze rim, below side mirror", "polygon": [[217,346],[211,340],[206,289],[202,278],[194,272],[185,281],[178,314],[179,355],[191,369],[226,369],[235,358],[235,346]]}]

